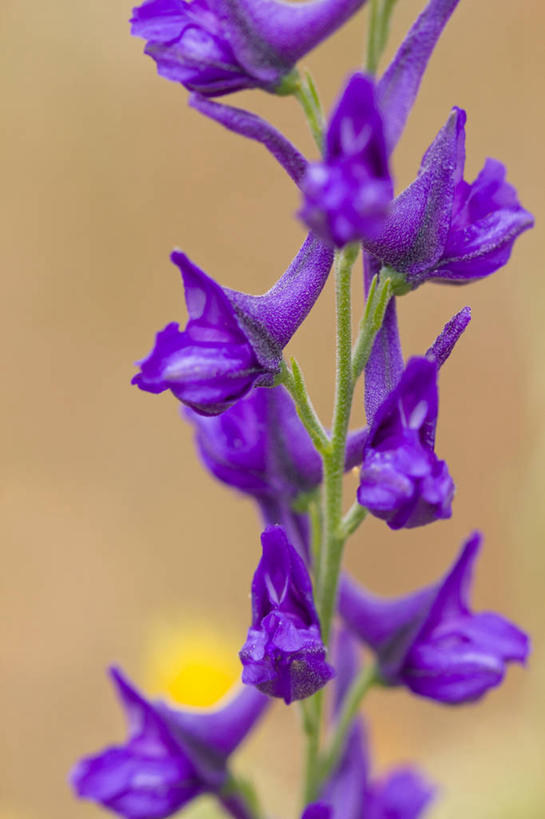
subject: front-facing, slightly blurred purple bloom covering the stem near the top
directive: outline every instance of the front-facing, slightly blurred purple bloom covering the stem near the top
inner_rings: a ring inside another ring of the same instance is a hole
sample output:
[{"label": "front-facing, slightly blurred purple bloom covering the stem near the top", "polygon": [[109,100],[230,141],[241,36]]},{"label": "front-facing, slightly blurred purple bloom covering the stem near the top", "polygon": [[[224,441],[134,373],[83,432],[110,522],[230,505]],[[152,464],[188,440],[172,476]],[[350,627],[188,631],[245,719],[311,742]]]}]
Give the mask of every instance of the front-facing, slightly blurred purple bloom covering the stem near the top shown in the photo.
[{"label": "front-facing, slightly blurred purple bloom covering the stem near the top", "polygon": [[353,74],[331,116],[323,162],[302,181],[301,219],[338,247],[365,240],[383,227],[392,180],[382,117],[372,79]]}]

